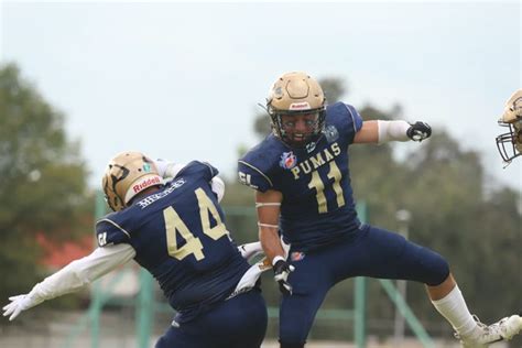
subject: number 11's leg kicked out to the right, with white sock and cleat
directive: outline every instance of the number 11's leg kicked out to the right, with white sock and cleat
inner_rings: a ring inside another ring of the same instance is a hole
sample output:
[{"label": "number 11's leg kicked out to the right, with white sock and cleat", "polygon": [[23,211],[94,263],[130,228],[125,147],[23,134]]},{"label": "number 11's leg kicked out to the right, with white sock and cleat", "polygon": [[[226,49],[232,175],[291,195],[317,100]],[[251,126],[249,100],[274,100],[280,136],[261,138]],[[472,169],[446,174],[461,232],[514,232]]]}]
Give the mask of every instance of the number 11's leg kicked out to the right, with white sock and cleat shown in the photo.
[{"label": "number 11's leg kicked out to the right, with white sock and cleat", "polygon": [[446,260],[427,248],[406,241],[398,233],[370,227],[361,238],[360,249],[367,251],[363,258],[368,262],[362,263],[362,274],[357,275],[424,283],[433,305],[463,341],[509,339],[522,329],[520,316],[504,318],[489,328],[478,323],[470,314]]}]

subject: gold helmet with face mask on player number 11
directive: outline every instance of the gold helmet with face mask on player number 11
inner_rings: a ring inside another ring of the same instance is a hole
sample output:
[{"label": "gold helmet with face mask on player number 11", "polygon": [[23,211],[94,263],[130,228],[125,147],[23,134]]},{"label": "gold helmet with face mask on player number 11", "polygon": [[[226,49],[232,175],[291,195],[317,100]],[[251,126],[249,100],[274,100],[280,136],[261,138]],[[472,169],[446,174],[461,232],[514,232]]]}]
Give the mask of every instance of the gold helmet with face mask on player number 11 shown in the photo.
[{"label": "gold helmet with face mask on player number 11", "polygon": [[[273,84],[267,99],[267,111],[272,119],[274,134],[289,145],[306,145],[323,132],[326,117],[326,99],[319,84],[306,73],[292,72],[282,75]],[[283,116],[308,115],[309,131],[295,137],[285,127]]]}]

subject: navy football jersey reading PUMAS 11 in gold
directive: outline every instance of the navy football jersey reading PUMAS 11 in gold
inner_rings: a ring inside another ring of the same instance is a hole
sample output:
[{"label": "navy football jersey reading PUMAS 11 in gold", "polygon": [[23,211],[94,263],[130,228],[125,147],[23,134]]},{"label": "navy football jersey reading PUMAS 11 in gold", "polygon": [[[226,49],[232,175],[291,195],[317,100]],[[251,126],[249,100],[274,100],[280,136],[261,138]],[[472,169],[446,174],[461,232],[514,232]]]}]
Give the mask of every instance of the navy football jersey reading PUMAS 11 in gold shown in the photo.
[{"label": "navy football jersey reading PUMAS 11 in gold", "polygon": [[326,108],[325,130],[316,142],[292,149],[270,134],[239,160],[243,184],[283,194],[280,228],[293,247],[309,250],[328,244],[359,227],[348,145],[361,127],[352,106],[336,102]]}]

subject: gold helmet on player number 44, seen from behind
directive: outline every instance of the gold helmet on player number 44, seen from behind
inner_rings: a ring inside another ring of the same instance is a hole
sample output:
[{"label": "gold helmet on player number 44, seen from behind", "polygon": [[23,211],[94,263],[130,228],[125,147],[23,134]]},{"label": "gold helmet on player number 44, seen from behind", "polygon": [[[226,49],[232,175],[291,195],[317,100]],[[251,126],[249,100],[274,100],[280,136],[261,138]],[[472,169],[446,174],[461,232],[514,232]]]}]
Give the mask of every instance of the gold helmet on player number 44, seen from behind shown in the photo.
[{"label": "gold helmet on player number 44, seen from behind", "polygon": [[140,152],[122,152],[110,160],[101,181],[107,204],[113,211],[140,192],[162,184],[154,161]]}]

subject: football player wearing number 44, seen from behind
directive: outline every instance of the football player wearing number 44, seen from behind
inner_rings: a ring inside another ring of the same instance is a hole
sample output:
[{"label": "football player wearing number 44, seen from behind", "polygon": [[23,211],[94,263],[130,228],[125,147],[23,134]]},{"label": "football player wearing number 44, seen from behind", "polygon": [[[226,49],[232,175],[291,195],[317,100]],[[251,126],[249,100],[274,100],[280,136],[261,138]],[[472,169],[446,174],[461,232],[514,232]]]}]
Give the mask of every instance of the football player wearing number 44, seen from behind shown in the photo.
[{"label": "football player wearing number 44, seen from behind", "polygon": [[98,248],[29,294],[10,297],[3,316],[12,320],[133,259],[156,279],[177,312],[156,347],[260,347],[268,320],[258,284],[263,267],[242,257],[260,247],[238,250],[230,239],[219,206],[225,185],[217,174],[197,161],[182,166],[139,152],[118,154],[102,178],[115,213],[96,224]]}]

